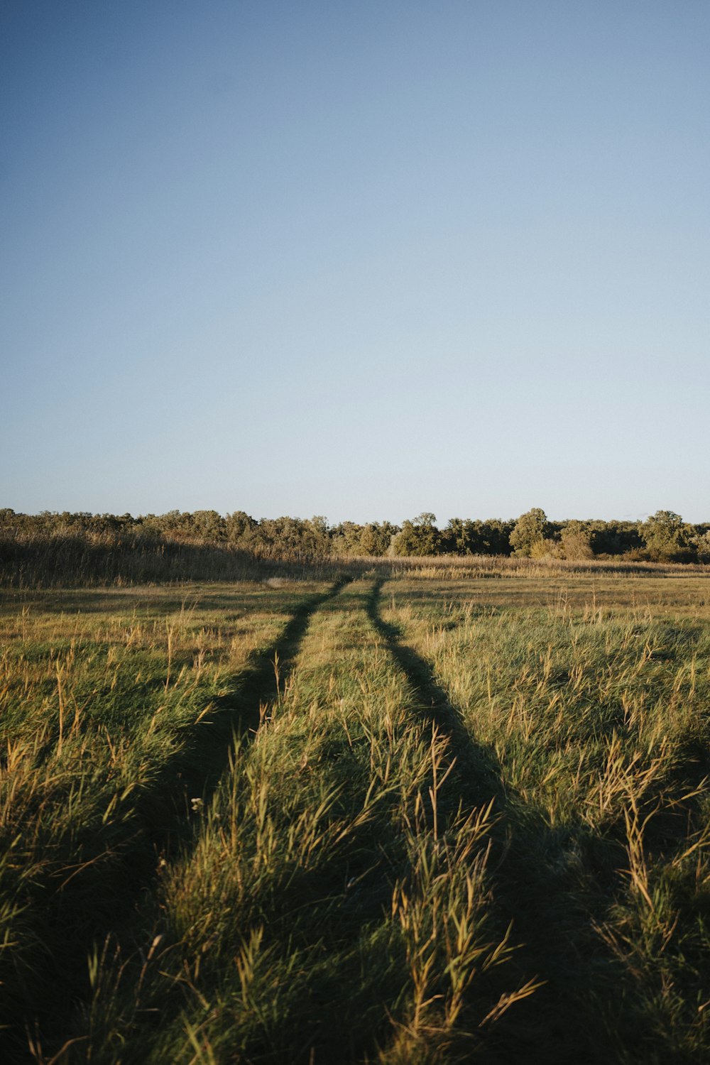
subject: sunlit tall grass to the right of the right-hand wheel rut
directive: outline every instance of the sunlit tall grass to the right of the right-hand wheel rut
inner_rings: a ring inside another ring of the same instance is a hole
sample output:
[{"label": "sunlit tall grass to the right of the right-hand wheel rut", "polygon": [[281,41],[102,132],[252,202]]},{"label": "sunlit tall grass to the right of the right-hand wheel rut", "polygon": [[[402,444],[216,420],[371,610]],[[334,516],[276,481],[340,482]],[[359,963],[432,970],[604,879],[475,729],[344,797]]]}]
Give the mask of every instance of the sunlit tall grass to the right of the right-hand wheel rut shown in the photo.
[{"label": "sunlit tall grass to the right of the right-hand wheel rut", "polygon": [[705,1060],[710,610],[447,593],[385,586],[384,617],[499,776],[505,897],[547,981],[539,1052]]}]

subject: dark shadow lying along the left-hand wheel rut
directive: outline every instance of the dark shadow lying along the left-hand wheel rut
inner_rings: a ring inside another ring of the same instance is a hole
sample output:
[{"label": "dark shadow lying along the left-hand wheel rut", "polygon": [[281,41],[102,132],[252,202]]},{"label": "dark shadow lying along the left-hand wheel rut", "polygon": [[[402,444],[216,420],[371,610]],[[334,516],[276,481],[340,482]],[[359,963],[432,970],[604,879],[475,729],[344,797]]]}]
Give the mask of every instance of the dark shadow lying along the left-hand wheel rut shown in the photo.
[{"label": "dark shadow lying along the left-hand wheel rut", "polygon": [[[164,861],[184,854],[195,840],[193,800],[208,803],[226,771],[236,737],[255,732],[260,704],[277,694],[274,668],[278,655],[281,683],[298,654],[312,615],[349,583],[341,577],[321,594],[298,604],[278,639],[253,653],[230,691],[213,701],[209,716],[188,730],[176,755],[161,767],[135,804],[134,816],[111,845],[114,859],[97,863],[40,902],[42,943],[35,979],[24,986],[30,1016],[9,1018],[0,1035],[3,1061],[32,1060],[27,1031],[42,1033],[45,1049],[56,1052],[66,1038],[68,1018],[88,1000],[87,957],[108,939],[128,958],[136,953],[154,916],[158,870]],[[137,955],[136,955],[137,956]],[[42,1003],[42,1009],[36,1009]],[[62,1056],[62,1061],[66,1059]]]}]

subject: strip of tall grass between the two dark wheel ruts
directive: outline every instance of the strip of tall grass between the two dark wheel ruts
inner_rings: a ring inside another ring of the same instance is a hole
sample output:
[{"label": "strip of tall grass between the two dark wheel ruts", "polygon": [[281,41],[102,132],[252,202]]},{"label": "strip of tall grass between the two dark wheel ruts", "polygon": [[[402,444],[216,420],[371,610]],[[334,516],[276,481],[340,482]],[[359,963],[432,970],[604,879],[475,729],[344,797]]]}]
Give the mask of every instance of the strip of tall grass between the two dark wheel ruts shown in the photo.
[{"label": "strip of tall grass between the two dark wheel ruts", "polygon": [[348,586],[293,668],[275,660],[278,693],[196,803],[141,950],[93,962],[66,1060],[463,1060],[532,989],[505,976],[490,810],[460,808],[369,593]]}]

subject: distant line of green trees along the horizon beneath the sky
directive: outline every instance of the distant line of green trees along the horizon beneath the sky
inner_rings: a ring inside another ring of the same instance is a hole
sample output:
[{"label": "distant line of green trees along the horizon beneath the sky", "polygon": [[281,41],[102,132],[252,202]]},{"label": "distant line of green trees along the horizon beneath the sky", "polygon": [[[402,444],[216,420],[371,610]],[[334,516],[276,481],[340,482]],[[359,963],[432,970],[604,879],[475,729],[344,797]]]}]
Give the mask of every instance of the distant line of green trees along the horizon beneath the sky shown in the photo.
[{"label": "distant line of green trees along the horizon beneath the sky", "polygon": [[94,514],[86,511],[16,513],[0,509],[0,537],[80,537],[129,548],[184,543],[231,547],[258,558],[518,555],[583,560],[625,556],[632,560],[710,562],[710,523],[690,524],[672,510],[645,521],[549,521],[534,507],[517,519],[451,518],[444,528],[424,512],[391,522],[341,522],[323,517],[254,519],[243,510],[165,514]]}]

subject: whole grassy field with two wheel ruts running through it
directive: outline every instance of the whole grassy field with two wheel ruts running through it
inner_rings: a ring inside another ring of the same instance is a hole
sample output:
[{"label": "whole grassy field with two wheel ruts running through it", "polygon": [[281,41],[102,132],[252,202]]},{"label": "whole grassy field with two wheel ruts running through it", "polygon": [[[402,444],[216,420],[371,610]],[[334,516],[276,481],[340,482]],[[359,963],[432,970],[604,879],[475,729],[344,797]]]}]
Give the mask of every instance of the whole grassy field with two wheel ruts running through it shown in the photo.
[{"label": "whole grassy field with two wheel ruts running through it", "polygon": [[2,592],[3,1061],[710,1060],[710,580],[437,562]]}]

